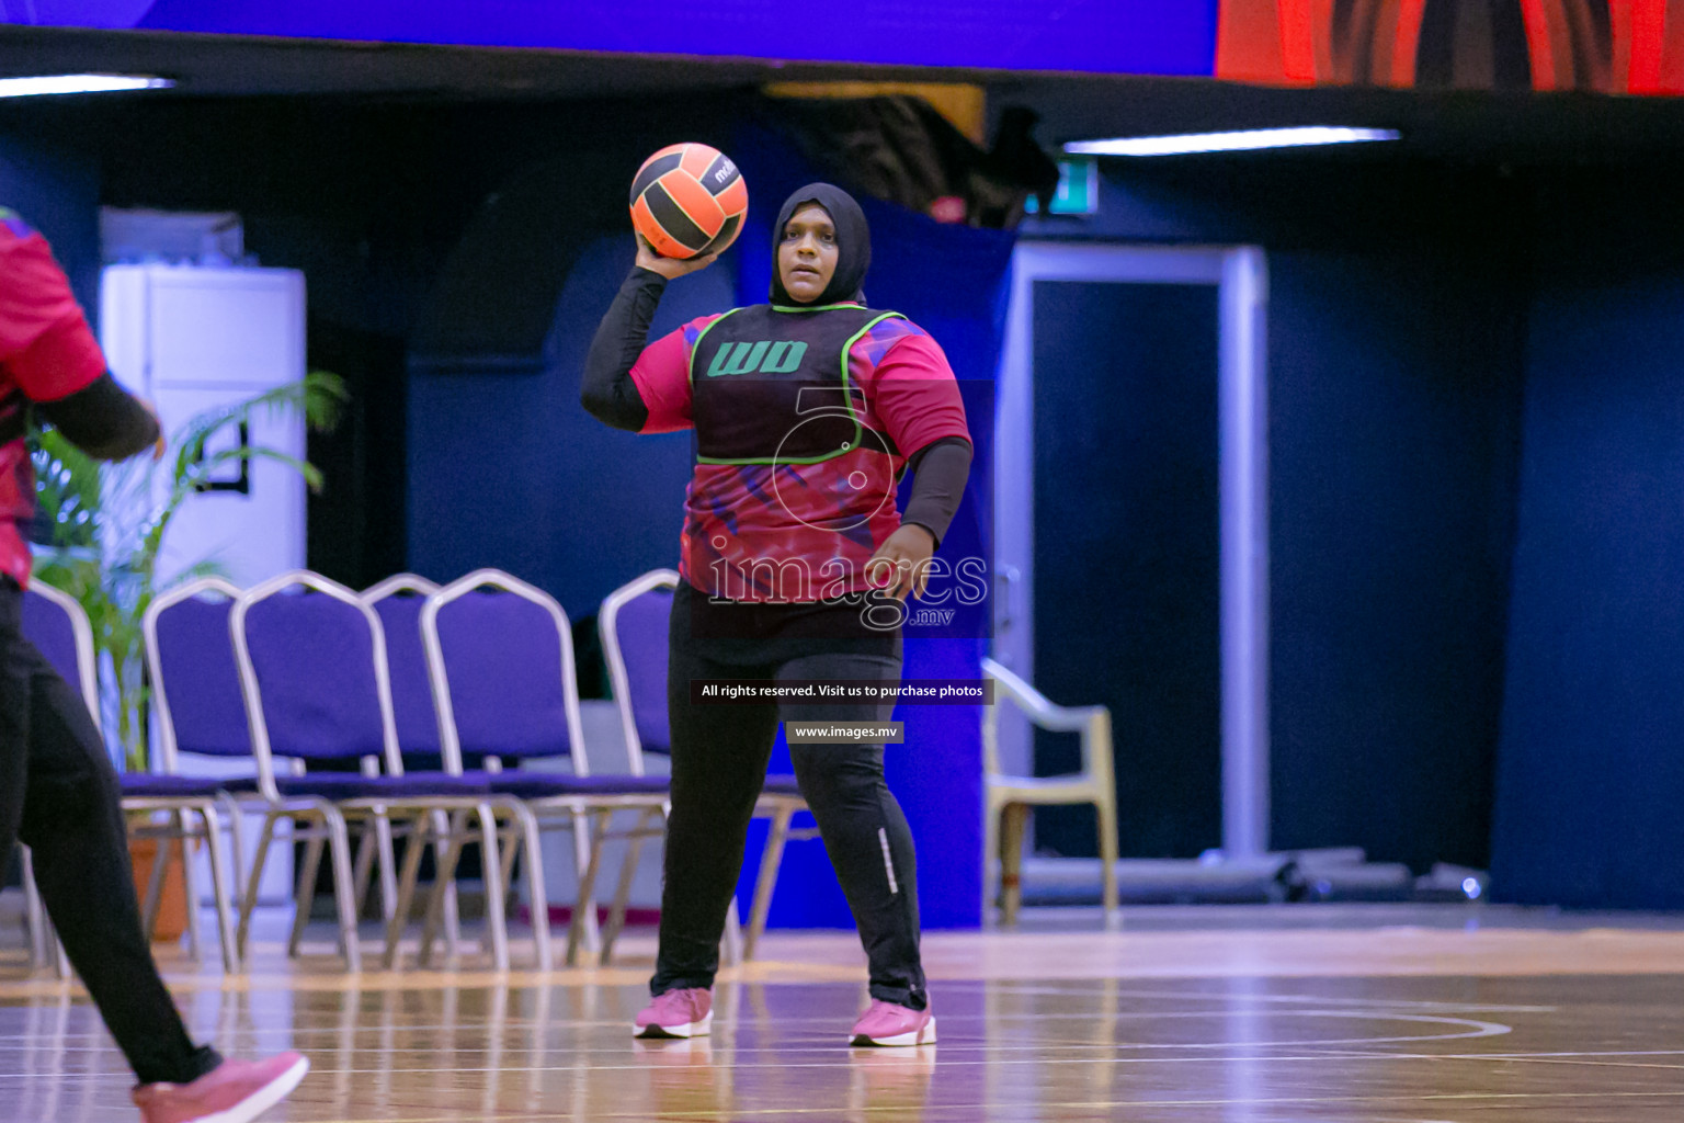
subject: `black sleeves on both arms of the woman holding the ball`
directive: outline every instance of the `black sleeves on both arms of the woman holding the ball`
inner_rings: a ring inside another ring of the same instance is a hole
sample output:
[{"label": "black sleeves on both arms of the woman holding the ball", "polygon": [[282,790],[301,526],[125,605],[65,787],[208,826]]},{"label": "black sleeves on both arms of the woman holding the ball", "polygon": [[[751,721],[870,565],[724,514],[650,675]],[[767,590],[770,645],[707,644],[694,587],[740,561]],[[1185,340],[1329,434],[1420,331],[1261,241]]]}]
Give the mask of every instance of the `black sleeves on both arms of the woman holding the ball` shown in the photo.
[{"label": "black sleeves on both arms of the woman holding the ball", "polygon": [[[648,424],[648,407],[632,381],[632,367],[648,342],[648,325],[663,291],[667,278],[633,266],[596,327],[584,357],[579,402],[603,424],[632,433]],[[918,450],[908,461],[914,473],[913,493],[901,520],[926,529],[938,546],[965,497],[970,458],[970,441],[948,436]]]}]

